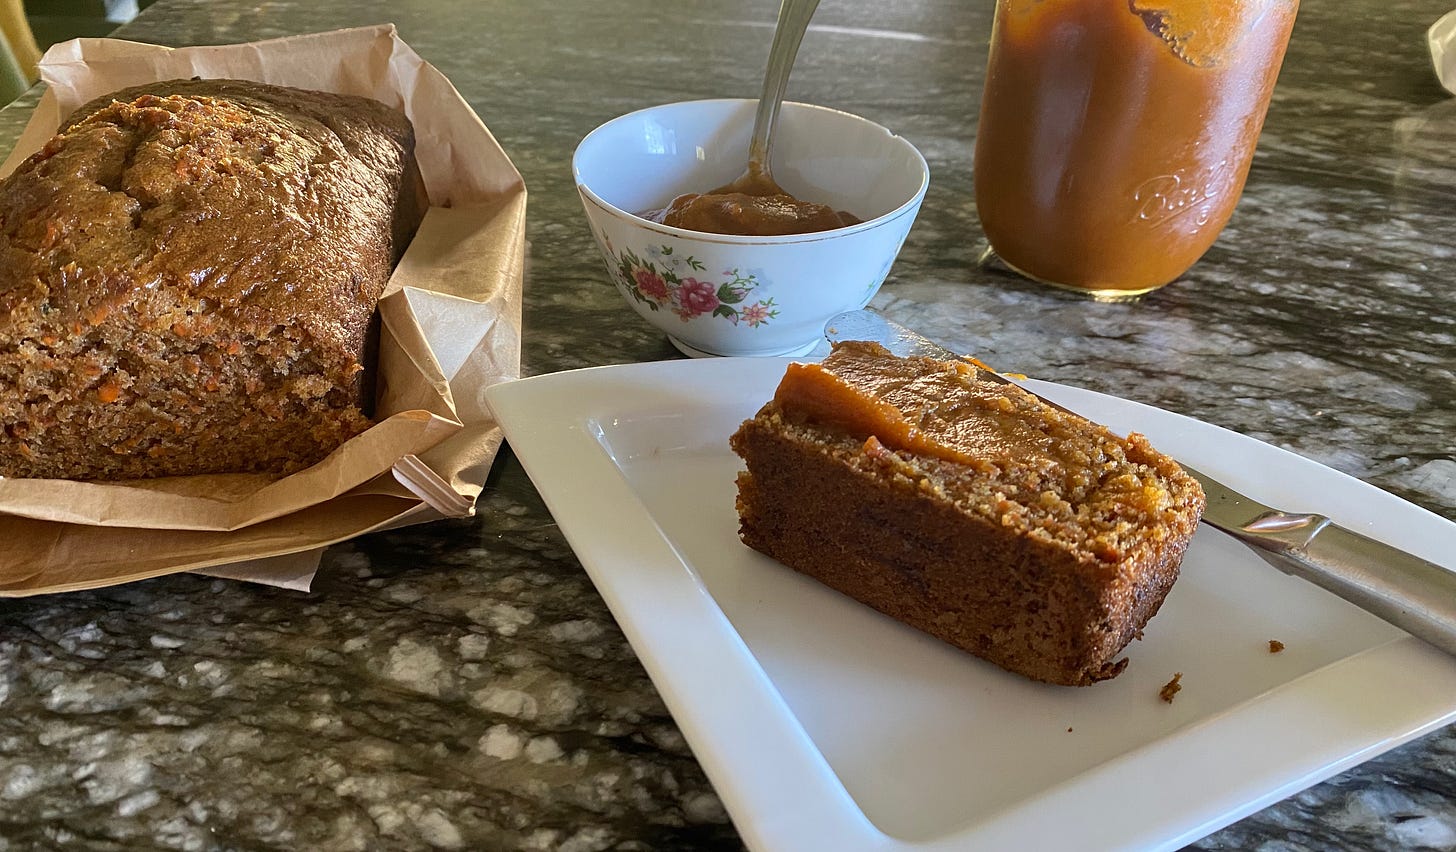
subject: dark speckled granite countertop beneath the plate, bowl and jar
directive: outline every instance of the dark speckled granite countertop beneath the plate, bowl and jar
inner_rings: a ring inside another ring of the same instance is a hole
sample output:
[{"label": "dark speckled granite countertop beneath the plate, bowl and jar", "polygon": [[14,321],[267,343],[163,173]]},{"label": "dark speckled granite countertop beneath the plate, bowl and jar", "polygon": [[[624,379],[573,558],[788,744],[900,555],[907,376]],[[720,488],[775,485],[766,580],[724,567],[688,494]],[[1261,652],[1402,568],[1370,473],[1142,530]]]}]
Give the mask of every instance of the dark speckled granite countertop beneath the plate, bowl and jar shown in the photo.
[{"label": "dark speckled granite countertop beneath the plate, bowl and jar", "polygon": [[[989,0],[826,3],[791,96],[914,141],[933,179],[874,306],[1002,368],[1289,447],[1456,518],[1450,0],[1309,1],[1248,189],[1181,281],[1095,304],[976,268]],[[753,96],[776,3],[160,0],[162,44],[393,20],[530,188],[529,374],[677,357],[610,287],[575,143]],[[0,143],[31,99],[0,111]],[[1372,696],[1380,701],[1382,696]],[[331,549],[303,594],[176,575],[0,601],[0,851],[738,849],[623,635],[510,454],[478,517]],[[1456,849],[1456,728],[1198,849]]]}]

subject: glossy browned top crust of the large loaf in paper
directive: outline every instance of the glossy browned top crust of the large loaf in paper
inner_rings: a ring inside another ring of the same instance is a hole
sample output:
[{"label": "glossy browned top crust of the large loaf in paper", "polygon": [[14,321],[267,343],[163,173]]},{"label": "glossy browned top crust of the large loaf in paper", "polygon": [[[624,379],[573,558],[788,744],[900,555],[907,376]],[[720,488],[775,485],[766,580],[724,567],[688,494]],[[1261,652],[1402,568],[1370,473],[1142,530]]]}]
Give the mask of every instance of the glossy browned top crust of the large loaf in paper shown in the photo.
[{"label": "glossy browned top crust of the large loaf in paper", "polygon": [[118,312],[183,336],[293,325],[357,354],[403,249],[412,135],[367,98],[233,80],[87,103],[0,182],[0,319],[73,335]]}]

